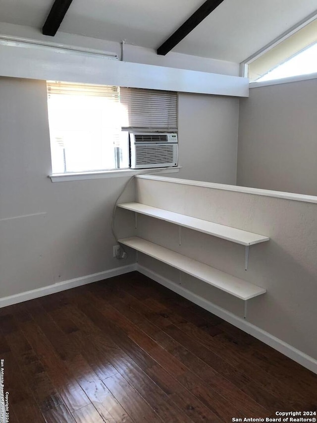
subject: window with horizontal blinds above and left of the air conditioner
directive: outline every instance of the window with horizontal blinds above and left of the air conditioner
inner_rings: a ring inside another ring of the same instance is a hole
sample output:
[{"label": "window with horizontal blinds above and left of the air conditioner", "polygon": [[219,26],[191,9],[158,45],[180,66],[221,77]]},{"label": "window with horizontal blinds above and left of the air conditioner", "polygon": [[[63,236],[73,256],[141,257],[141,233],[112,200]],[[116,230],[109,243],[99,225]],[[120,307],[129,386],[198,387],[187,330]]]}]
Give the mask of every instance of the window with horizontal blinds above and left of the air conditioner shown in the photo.
[{"label": "window with horizontal blinds above and left of the air conditioner", "polygon": [[177,130],[177,93],[48,81],[53,174],[129,167],[129,129]]}]

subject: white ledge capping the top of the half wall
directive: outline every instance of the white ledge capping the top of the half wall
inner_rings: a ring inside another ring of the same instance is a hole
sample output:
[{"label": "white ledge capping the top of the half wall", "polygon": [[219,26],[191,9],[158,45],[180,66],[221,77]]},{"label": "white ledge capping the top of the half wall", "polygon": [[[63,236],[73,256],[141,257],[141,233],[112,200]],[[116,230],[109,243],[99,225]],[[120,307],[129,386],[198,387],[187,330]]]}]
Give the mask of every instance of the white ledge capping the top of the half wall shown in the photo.
[{"label": "white ledge capping the top of the half wall", "polygon": [[137,175],[136,178],[150,179],[153,181],[180,183],[183,185],[203,186],[206,188],[223,189],[225,191],[244,192],[247,194],[264,195],[266,197],[284,198],[286,200],[304,201],[306,203],[317,203],[314,195],[294,194],[292,192],[271,191],[269,189],[250,188],[247,186],[225,185],[223,183],[192,181],[189,179],[168,178],[156,175]]}]

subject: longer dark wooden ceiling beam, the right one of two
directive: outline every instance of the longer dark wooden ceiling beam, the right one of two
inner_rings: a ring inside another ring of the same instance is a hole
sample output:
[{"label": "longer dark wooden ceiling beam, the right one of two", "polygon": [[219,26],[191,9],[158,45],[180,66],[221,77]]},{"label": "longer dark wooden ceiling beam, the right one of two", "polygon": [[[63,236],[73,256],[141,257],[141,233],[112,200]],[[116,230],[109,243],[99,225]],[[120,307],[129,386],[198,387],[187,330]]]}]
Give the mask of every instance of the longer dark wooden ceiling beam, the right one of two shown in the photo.
[{"label": "longer dark wooden ceiling beam, the right one of two", "polygon": [[165,56],[183,38],[199,25],[223,0],[207,0],[183,23],[157,50],[158,55]]}]

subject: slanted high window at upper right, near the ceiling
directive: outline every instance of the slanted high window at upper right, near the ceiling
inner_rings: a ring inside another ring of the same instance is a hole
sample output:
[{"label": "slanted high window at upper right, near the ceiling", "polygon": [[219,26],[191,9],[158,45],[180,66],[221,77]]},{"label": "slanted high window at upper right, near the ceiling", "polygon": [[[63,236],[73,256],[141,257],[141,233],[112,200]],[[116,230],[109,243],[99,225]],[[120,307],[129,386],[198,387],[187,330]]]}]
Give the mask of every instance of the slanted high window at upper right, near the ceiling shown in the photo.
[{"label": "slanted high window at upper right, near the ceiling", "polygon": [[317,19],[311,19],[246,60],[250,82],[317,72]]}]

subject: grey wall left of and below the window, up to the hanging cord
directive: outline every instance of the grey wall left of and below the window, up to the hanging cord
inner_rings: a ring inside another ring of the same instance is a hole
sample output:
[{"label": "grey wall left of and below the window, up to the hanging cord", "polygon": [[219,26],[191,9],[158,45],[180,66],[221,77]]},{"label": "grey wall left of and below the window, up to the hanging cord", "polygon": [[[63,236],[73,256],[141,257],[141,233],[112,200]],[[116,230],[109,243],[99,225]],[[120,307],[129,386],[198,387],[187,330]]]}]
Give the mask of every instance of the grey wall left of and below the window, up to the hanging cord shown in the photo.
[{"label": "grey wall left of and below the window, up to the hanging cord", "polygon": [[135,261],[112,258],[112,209],[126,178],[48,178],[44,81],[0,78],[0,140],[0,298]]}]

